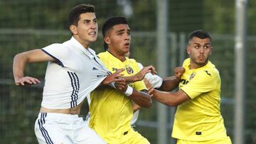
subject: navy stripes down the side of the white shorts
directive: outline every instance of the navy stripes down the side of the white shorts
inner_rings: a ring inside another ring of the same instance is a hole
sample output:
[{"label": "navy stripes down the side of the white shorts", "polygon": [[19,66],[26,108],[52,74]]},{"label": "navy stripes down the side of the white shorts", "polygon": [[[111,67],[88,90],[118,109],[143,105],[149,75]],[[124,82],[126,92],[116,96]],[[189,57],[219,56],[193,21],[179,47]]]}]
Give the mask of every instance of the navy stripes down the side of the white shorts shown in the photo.
[{"label": "navy stripes down the side of the white shorts", "polygon": [[46,131],[46,128],[43,128],[43,124],[46,123],[46,118],[47,113],[41,113],[41,118],[38,118],[38,125],[39,125],[39,129],[43,135],[43,138],[45,138],[46,143],[47,144],[53,144],[53,141],[50,139],[50,136],[48,134],[48,132]]}]

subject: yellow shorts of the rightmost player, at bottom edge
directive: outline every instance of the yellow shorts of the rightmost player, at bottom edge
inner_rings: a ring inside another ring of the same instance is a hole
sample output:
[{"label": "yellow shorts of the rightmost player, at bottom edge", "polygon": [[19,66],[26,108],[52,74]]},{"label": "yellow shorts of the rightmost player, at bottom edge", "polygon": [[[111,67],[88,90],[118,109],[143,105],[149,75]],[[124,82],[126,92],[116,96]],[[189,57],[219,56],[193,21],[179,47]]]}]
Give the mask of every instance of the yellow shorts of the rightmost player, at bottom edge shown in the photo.
[{"label": "yellow shorts of the rightmost player, at bottom edge", "polygon": [[177,140],[177,144],[232,144],[230,137],[218,138],[207,141],[189,141],[189,140]]}]

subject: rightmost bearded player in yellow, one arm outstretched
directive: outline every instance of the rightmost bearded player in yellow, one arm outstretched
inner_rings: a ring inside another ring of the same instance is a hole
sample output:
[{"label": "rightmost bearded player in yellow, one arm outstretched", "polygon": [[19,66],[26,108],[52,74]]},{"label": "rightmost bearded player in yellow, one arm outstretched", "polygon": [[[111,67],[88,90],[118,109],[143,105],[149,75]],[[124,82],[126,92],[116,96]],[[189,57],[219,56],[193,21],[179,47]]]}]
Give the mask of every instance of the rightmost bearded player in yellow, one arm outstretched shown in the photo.
[{"label": "rightmost bearded player in yellow, one arm outstretched", "polygon": [[210,35],[193,31],[188,36],[189,58],[183,62],[185,73],[178,92],[150,92],[157,101],[178,106],[172,132],[178,144],[231,143],[220,115],[220,75],[208,60],[212,50]]}]

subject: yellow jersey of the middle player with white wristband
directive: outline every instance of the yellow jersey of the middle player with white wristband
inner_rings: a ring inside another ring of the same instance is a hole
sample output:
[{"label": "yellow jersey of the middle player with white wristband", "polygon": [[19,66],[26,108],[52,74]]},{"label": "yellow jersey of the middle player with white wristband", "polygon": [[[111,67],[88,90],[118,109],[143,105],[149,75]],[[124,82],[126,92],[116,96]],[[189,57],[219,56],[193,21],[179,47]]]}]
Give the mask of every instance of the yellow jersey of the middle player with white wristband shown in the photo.
[{"label": "yellow jersey of the middle player with white wristband", "polygon": [[[110,72],[125,68],[124,76],[132,76],[140,71],[136,60],[126,57],[124,62],[110,52],[98,54]],[[146,89],[143,81],[129,84],[133,89]],[[90,94],[90,128],[96,131],[107,143],[124,143],[129,139],[132,119],[132,100],[112,87],[98,87]]]}]

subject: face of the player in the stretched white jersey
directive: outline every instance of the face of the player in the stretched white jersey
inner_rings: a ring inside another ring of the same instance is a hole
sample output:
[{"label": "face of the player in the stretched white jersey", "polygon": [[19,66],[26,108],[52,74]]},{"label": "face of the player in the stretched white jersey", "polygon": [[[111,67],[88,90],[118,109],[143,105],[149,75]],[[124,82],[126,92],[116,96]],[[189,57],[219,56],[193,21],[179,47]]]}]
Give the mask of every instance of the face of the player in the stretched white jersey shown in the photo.
[{"label": "face of the player in the stretched white jersey", "polygon": [[82,45],[89,45],[97,40],[97,18],[95,13],[82,13],[78,21],[78,26],[75,26],[73,33]]}]

